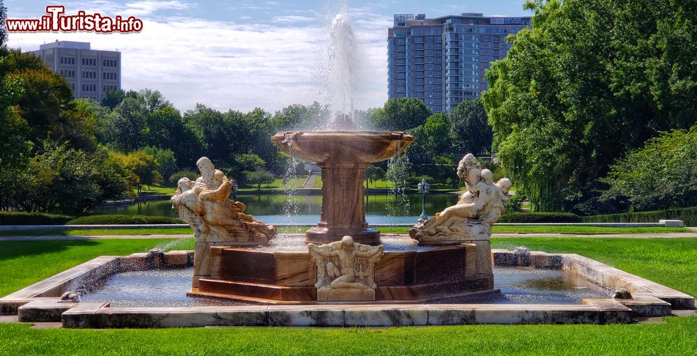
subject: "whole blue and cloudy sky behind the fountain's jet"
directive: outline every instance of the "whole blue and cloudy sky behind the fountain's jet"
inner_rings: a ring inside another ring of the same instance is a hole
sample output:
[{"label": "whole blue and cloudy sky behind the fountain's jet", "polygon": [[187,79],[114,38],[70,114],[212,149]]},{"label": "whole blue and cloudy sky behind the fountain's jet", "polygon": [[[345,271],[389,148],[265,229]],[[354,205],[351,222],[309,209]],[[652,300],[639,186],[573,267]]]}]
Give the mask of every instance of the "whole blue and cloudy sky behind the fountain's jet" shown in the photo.
[{"label": "whole blue and cloudy sky behind the fountain's jet", "polygon": [[55,40],[91,42],[121,52],[125,90],[158,90],[180,110],[197,103],[221,111],[275,112],[292,104],[325,102],[323,77],[328,28],[342,6],[362,58],[356,77],[357,109],[387,100],[387,31],[395,13],[427,17],[484,13],[530,16],[523,0],[465,1],[211,1],[5,0],[8,18],[38,19],[45,6],[64,5],[105,16],[143,20],[139,33],[10,33],[23,51]]}]

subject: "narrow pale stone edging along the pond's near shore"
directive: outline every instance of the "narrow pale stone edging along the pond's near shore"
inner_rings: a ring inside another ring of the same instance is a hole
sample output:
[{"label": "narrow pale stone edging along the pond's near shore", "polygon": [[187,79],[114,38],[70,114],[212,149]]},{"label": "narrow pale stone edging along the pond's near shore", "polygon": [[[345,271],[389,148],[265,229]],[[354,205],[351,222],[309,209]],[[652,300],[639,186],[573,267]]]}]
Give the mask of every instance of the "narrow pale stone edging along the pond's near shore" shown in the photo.
[{"label": "narrow pale stone edging along the pond's near shore", "polygon": [[[678,223],[679,222],[679,223]],[[417,222],[414,222],[416,224]],[[372,227],[412,227],[414,224],[370,224]],[[270,224],[276,227],[314,227],[316,224]],[[596,226],[596,227],[682,227],[680,220],[661,222],[560,222],[560,223],[497,223],[500,226]],[[22,230],[112,230],[112,229],[183,229],[187,224],[125,224],[125,225],[0,225],[0,231]]]}]

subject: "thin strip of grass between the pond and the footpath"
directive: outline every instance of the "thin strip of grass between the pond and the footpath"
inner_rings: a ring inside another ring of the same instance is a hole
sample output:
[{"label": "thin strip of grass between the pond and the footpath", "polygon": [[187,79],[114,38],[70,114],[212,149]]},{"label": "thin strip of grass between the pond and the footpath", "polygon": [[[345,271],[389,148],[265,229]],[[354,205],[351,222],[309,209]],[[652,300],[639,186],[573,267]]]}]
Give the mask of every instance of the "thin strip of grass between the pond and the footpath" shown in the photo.
[{"label": "thin strip of grass between the pond and the footpath", "polygon": [[[279,233],[305,233],[305,228],[279,227]],[[408,233],[408,227],[381,227],[382,233]],[[689,233],[690,229],[675,227],[636,227],[636,228],[615,228],[615,227],[596,227],[596,226],[494,226],[494,233]],[[189,228],[182,229],[113,229],[113,230],[22,230],[22,231],[0,231],[0,236],[42,236],[42,235],[183,235],[192,233]]]}]

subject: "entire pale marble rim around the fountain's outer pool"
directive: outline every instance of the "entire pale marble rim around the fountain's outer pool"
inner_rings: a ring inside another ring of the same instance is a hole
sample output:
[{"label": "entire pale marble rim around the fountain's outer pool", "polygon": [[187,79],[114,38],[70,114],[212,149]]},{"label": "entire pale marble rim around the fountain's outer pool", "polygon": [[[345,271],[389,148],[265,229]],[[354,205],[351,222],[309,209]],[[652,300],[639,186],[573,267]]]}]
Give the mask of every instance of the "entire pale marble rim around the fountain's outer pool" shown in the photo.
[{"label": "entire pale marble rim around the fountain's outer pool", "polygon": [[[493,249],[495,265],[563,269],[634,299],[590,299],[583,304],[351,304],[243,305],[233,307],[121,308],[108,303],[58,302],[66,291],[115,272],[192,265],[192,251],[152,250],[100,256],[0,298],[0,314],[23,321],[63,321],[64,327],[399,326],[531,323],[629,323],[634,316],[666,316],[694,309],[694,297],[576,254],[529,255]],[[59,316],[61,319],[59,319]]]}]

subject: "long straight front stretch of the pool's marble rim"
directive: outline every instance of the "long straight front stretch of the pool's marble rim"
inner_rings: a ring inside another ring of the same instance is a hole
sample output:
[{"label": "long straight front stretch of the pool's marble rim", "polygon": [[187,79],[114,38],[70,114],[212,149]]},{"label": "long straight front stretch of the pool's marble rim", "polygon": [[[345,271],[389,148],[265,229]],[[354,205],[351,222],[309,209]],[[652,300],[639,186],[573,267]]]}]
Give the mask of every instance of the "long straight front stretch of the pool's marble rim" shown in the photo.
[{"label": "long straight front stretch of the pool's marble rim", "polygon": [[[85,304],[85,305],[82,305]],[[81,303],[62,316],[63,327],[418,326],[463,324],[608,324],[631,322],[631,309],[604,305],[330,304],[293,306],[109,308]]]}]

